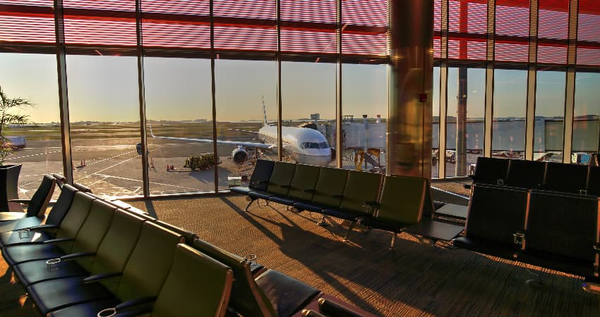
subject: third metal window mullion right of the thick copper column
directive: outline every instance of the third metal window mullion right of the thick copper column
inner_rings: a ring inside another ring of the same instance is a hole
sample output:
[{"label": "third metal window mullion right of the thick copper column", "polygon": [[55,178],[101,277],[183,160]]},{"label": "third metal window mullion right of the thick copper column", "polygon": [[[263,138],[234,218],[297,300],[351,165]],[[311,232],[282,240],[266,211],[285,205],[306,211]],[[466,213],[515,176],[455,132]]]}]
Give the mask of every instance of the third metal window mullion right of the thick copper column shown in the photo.
[{"label": "third metal window mullion right of the thick copper column", "polygon": [[534,155],[538,11],[538,1],[532,0],[529,7],[529,58],[527,65],[527,104],[525,110],[525,159],[529,161],[533,159]]}]

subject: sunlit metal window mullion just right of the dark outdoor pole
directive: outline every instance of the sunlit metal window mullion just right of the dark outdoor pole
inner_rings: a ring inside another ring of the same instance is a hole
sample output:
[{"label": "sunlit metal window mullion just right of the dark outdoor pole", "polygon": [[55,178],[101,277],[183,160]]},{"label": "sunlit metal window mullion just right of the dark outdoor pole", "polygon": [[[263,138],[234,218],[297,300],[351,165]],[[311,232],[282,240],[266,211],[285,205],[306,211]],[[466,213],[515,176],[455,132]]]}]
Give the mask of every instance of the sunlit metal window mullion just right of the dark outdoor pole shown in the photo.
[{"label": "sunlit metal window mullion just right of the dark outdoor pole", "polygon": [[488,0],[486,39],[486,94],[484,106],[484,156],[492,155],[493,137],[493,70],[494,34],[496,32],[496,1]]}]

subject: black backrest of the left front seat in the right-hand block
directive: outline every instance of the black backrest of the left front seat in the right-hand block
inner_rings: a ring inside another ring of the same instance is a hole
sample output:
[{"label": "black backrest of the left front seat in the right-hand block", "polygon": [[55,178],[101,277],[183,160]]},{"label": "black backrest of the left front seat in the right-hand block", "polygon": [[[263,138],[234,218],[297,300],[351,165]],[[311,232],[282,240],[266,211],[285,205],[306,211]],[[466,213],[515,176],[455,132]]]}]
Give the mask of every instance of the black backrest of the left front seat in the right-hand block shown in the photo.
[{"label": "black backrest of the left front seat in the right-hand block", "polygon": [[514,244],[513,234],[525,228],[529,190],[479,184],[472,189],[467,237]]}]

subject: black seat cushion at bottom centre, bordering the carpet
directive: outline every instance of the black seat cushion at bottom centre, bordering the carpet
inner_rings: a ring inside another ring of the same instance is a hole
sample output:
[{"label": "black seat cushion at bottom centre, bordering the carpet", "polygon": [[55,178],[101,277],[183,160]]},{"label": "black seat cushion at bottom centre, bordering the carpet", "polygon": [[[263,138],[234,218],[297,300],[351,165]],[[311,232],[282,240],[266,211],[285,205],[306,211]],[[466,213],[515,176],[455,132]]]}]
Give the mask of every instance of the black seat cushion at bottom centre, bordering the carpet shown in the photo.
[{"label": "black seat cushion at bottom centre, bordering the carpet", "polygon": [[292,316],[320,293],[316,288],[275,270],[259,275],[256,283],[270,300],[277,316]]}]

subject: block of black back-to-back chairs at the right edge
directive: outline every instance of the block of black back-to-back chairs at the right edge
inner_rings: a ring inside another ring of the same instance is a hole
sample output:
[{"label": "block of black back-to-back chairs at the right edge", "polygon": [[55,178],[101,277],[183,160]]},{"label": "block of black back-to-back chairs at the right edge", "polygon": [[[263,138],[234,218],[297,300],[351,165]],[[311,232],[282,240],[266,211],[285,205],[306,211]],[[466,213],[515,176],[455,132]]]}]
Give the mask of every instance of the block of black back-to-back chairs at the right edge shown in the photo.
[{"label": "block of black back-to-back chairs at the right edge", "polygon": [[479,158],[464,237],[456,247],[597,282],[596,167]]}]

